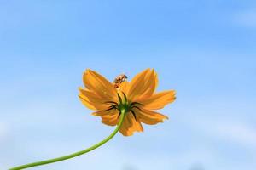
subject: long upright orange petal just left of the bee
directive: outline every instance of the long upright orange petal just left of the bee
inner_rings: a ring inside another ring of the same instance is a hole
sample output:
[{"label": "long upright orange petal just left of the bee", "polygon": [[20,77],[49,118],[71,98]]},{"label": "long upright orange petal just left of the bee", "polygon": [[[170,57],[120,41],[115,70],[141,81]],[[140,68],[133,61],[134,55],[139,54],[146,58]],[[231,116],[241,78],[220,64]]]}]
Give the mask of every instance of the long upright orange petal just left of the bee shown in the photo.
[{"label": "long upright orange petal just left of the bee", "polygon": [[116,89],[113,87],[113,83],[102,75],[87,69],[83,76],[84,86],[89,90],[95,92],[102,99],[108,101],[115,100],[117,98]]}]

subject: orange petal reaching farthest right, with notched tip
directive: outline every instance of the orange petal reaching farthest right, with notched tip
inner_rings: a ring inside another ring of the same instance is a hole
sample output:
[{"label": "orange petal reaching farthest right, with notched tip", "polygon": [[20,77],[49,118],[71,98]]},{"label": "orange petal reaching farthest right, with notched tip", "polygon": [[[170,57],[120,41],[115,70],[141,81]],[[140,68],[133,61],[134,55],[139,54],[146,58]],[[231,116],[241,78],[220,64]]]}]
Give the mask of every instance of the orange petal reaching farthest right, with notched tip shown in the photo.
[{"label": "orange petal reaching farthest right, with notched tip", "polygon": [[172,103],[176,97],[176,92],[174,90],[160,92],[158,94],[153,94],[150,97],[143,97],[137,99],[137,102],[143,104],[143,107],[149,110],[158,110],[165,107],[167,104]]}]

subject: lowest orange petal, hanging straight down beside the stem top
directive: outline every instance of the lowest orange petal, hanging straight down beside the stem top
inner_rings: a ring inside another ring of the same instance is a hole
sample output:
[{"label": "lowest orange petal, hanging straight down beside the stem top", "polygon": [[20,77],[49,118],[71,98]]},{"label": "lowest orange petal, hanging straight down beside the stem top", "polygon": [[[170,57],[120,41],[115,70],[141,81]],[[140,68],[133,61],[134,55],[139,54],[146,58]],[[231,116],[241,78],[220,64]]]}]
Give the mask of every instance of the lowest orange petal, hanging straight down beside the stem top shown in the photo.
[{"label": "lowest orange petal, hanging straight down beside the stem top", "polygon": [[134,118],[131,112],[128,112],[119,132],[124,136],[131,136],[134,132],[143,132],[143,126],[141,122]]}]

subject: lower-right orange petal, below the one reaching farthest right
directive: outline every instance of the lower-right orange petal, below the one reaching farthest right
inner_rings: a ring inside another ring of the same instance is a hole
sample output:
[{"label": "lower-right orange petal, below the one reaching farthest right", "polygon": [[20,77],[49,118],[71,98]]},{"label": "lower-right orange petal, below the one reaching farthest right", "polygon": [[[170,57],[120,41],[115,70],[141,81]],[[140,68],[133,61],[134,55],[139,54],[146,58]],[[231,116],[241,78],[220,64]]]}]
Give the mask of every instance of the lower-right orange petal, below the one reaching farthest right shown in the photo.
[{"label": "lower-right orange petal, below the one reaching farthest right", "polygon": [[154,125],[159,122],[164,122],[164,119],[168,119],[167,116],[162,115],[155,111],[149,111],[147,109],[141,108],[142,111],[136,109],[137,116],[139,117],[140,121],[146,123],[148,125]]}]

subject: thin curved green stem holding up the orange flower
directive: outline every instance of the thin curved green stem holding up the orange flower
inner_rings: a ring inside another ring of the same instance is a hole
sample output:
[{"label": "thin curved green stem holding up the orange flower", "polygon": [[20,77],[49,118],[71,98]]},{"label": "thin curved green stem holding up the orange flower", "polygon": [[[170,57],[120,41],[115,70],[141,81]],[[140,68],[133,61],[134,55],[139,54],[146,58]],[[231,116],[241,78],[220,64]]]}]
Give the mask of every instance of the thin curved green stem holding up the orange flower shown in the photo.
[{"label": "thin curved green stem holding up the orange flower", "polygon": [[91,146],[90,148],[75,152],[75,153],[67,155],[67,156],[56,157],[54,159],[49,159],[49,160],[45,160],[45,161],[37,161],[37,162],[29,163],[29,164],[26,164],[26,165],[21,165],[19,167],[12,167],[12,168],[9,168],[9,170],[19,170],[19,169],[25,169],[25,168],[28,168],[28,167],[36,167],[36,166],[40,166],[40,165],[54,163],[54,162],[57,162],[57,161],[64,161],[64,160],[67,160],[67,159],[70,159],[70,158],[73,158],[73,157],[76,157],[76,156],[81,156],[81,155],[83,155],[87,152],[90,152],[91,150],[95,150],[96,148],[100,147],[102,144],[107,143],[108,140],[112,139],[113,136],[116,133],[119,132],[119,128],[121,127],[122,123],[124,122],[124,118],[125,118],[125,110],[122,110],[121,111],[121,116],[119,118],[119,123],[118,123],[117,127],[114,129],[113,133],[111,133],[106,139],[103,139],[101,142]]}]

